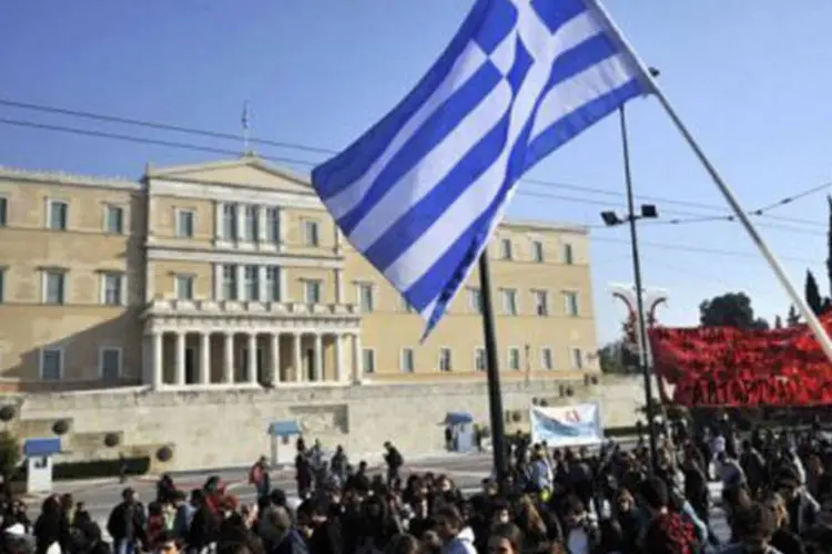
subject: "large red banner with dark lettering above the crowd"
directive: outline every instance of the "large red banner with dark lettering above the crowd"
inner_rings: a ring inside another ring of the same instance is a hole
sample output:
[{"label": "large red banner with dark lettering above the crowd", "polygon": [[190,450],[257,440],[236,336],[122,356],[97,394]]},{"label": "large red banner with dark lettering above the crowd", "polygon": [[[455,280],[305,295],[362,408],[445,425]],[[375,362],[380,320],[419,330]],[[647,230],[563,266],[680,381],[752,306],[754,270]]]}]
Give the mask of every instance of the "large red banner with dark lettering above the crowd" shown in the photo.
[{"label": "large red banner with dark lettering above the crowd", "polygon": [[[832,315],[822,318],[832,330]],[[650,329],[657,375],[672,401],[697,406],[832,403],[832,365],[803,325],[769,331],[731,327]]]}]

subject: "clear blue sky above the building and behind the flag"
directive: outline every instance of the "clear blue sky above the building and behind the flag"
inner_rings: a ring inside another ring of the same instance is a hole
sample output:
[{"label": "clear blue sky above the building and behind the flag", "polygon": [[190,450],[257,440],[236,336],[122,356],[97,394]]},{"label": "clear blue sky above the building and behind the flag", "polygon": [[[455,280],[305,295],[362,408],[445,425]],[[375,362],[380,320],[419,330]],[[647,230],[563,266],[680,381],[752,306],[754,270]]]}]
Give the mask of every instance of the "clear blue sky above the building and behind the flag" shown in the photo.
[{"label": "clear blue sky above the building and behind the flag", "polygon": [[[555,1],[555,0],[552,0]],[[2,2],[0,98],[240,132],[244,100],[256,136],[327,148],[347,145],[418,80],[471,0],[145,0]],[[748,208],[832,181],[832,2],[608,0],[640,55]],[[667,218],[719,215],[724,203],[655,100],[630,104],[638,194]],[[94,127],[241,148],[0,106],[0,117]],[[321,154],[258,147],[267,156]],[[159,146],[0,125],[0,163],[27,168],[138,176],[158,165],[216,158]],[[308,166],[295,170],[308,171]],[[538,166],[531,177],[607,194],[521,185],[585,199],[517,196],[515,217],[581,224],[623,207],[617,121],[608,119]],[[802,290],[806,267],[824,293],[824,192],[770,212],[808,223],[755,220]],[[592,230],[600,339],[616,338],[623,310],[606,293],[631,280],[626,229]],[[670,293],[669,325],[693,325],[698,305],[745,290],[760,316],[789,301],[734,223],[643,226],[646,283]],[[706,252],[717,250],[717,252]]]}]

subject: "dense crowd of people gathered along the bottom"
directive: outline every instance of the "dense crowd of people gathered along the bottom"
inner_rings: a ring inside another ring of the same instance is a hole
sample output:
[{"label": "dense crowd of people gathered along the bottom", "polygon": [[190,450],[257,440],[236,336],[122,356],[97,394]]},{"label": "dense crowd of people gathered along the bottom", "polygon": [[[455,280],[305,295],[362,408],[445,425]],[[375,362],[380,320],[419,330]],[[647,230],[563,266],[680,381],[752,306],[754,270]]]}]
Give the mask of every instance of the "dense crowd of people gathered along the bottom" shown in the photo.
[{"label": "dense crowd of people gathered along the bottom", "polygon": [[[655,463],[641,440],[592,452],[509,442],[508,478],[466,496],[448,475],[405,474],[392,443],[386,471],[374,472],[341,448],[328,456],[298,440],[296,495],[272,486],[265,459],[250,472],[251,505],[217,478],[186,492],[163,476],[146,506],[123,491],[108,542],[71,495],[45,499],[33,522],[7,501],[0,554],[832,553],[830,444],[820,431],[741,438],[730,423],[680,425],[661,438]],[[714,480],[730,536],[711,525]]]}]

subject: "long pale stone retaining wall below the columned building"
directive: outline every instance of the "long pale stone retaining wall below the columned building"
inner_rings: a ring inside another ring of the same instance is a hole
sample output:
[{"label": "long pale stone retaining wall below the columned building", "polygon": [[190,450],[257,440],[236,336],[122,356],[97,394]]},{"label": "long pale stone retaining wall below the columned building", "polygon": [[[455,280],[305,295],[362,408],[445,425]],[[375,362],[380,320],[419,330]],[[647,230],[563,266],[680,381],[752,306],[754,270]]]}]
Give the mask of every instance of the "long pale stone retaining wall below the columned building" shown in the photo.
[{"label": "long pale stone retaining wall below the columned building", "polygon": [[[606,427],[632,424],[643,398],[640,380],[627,378],[602,378],[599,384],[507,382],[503,392],[504,409],[519,412],[522,421],[532,399],[545,399],[550,406],[599,401]],[[48,435],[54,421],[69,420],[63,460],[112,459],[120,451],[142,449],[152,454],[166,444],[174,454],[161,469],[170,471],[239,466],[267,455],[266,429],[273,421],[297,420],[307,438],[321,439],[327,449],[343,444],[354,455],[377,453],[385,440],[405,453],[438,452],[448,412],[469,412],[476,422],[488,425],[485,382],[253,391],[108,390],[7,397],[6,402],[17,403],[12,428],[23,437]],[[507,416],[513,419],[513,413]],[[120,447],[103,444],[108,433],[119,434]],[[97,435],[101,438],[98,449]]]}]

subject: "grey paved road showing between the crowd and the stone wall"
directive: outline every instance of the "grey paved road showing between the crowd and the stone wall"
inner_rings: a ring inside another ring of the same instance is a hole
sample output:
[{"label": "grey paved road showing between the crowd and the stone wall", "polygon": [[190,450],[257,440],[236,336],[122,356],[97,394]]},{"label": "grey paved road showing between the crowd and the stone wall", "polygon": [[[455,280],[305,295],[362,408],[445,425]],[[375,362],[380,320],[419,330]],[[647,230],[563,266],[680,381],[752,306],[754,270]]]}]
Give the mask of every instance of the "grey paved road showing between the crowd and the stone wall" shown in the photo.
[{"label": "grey paved road showing between the crowd and the stone wall", "polygon": [[[490,473],[491,460],[488,454],[449,454],[436,458],[425,458],[413,460],[407,463],[404,473],[409,472],[434,472],[448,475],[460,489],[467,493],[479,490],[480,481]],[[245,470],[226,470],[211,473],[187,473],[174,475],[174,482],[183,490],[191,490],[202,486],[210,475],[220,475],[230,484],[230,490],[240,497],[241,502],[253,503],[255,492],[247,484],[247,471]],[[275,472],[273,474],[273,486],[283,489],[288,494],[295,492],[294,470]],[[155,495],[155,483],[152,479],[135,479],[128,483],[139,492],[140,497],[151,499]],[[57,483],[55,492],[72,492],[77,501],[84,501],[92,516],[102,524],[105,523],[106,516],[112,506],[119,501],[120,491],[125,485],[113,481],[90,483]],[[712,488],[712,496],[719,495],[720,486]],[[728,526],[726,524],[722,511],[718,507],[711,515],[712,525],[717,536],[723,541],[728,538]]]}]

